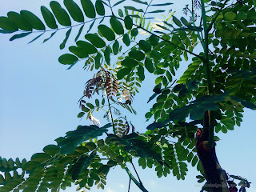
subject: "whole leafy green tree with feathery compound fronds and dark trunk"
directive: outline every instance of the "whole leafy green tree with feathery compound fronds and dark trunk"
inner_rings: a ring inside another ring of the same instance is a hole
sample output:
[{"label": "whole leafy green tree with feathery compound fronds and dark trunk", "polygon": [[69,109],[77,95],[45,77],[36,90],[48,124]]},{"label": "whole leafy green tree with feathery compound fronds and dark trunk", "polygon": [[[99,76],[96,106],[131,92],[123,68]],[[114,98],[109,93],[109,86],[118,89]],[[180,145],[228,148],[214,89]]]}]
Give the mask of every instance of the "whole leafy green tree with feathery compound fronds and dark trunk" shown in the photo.
[{"label": "whole leafy green tree with feathery compound fronds and dark trunk", "polygon": [[[52,11],[41,7],[46,25],[26,10],[20,14],[11,11],[7,17],[0,18],[1,33],[21,32],[14,34],[10,41],[41,31],[30,42],[45,34],[46,26],[53,31],[50,38],[53,37],[61,30],[57,20],[67,30],[61,49],[66,46],[70,31],[80,26],[76,46],[70,46],[71,53],[62,54],[59,62],[70,65],[70,69],[86,59],[83,68],[97,70],[94,78],[86,82],[80,100],[82,112],[78,114],[79,118],[86,115],[93,125],[78,126],[65,137],[57,138],[57,145],[46,146],[44,153],[34,154],[29,162],[2,158],[1,171],[5,172],[5,178],[0,178],[2,191],[55,191],[66,189],[72,182],[80,188],[90,189],[97,184],[104,188],[106,174],[113,166],[122,166],[130,180],[147,191],[139,177],[134,178],[126,166],[133,158],[138,158],[142,167],[155,166],[159,177],[172,170],[178,179],[185,179],[186,162],[191,162],[202,173],[199,182],[206,180],[202,190],[228,191],[228,183],[229,190],[235,191],[232,178],[240,180],[242,191],[250,186],[245,178],[228,177],[218,164],[214,150],[214,139],[218,137],[214,136],[214,130],[216,133],[233,130],[235,124],[239,126],[242,122],[243,108],[255,109],[255,1],[192,1],[192,8],[184,8],[185,14],[191,15],[190,21],[170,13],[162,23],[155,24],[158,29],[150,27],[146,16],[164,10],[149,8],[172,3],[134,2],[145,9],[134,6],[116,9],[125,1],[101,0],[82,0],[80,8],[66,0],[66,9],[54,1],[50,2]],[[85,20],[85,16],[90,20]],[[78,25],[72,25],[72,19]],[[78,41],[86,23],[90,23],[86,40]],[[98,31],[93,34],[94,29]],[[138,30],[146,32],[146,38],[139,36]],[[197,46],[203,48],[200,54],[194,49]],[[176,82],[175,70],[182,59],[188,60],[188,54],[193,57],[192,62]],[[154,94],[149,99],[149,102],[154,98],[156,101],[145,115],[147,119],[154,117],[155,122],[141,134],[134,132],[130,119],[118,117],[120,110],[115,105],[136,113],[132,100],[145,79],[146,70],[157,75]],[[100,91],[106,93],[101,102],[98,98],[95,104],[88,102],[86,98]],[[104,116],[109,118],[109,124],[100,127],[94,118],[98,110],[106,111]],[[200,124],[202,130],[198,129]],[[112,132],[108,130],[110,127]],[[197,138],[194,138],[196,131]],[[106,138],[99,138],[102,134]],[[22,169],[22,175],[17,169]]]}]

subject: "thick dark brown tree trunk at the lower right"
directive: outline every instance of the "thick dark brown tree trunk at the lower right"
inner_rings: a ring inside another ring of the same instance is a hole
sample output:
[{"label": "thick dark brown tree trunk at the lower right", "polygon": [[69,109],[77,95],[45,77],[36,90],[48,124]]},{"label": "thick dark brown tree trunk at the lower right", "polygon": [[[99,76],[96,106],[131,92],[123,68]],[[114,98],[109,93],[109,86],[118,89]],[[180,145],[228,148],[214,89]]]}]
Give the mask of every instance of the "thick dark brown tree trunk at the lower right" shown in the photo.
[{"label": "thick dark brown tree trunk at the lower right", "polygon": [[204,128],[198,129],[195,139],[195,146],[198,152],[198,158],[202,164],[204,176],[206,178],[206,189],[210,192],[229,192],[226,182],[226,172],[222,170],[216,156],[215,144],[213,148],[207,147],[209,138],[209,118],[208,111],[204,115]]}]

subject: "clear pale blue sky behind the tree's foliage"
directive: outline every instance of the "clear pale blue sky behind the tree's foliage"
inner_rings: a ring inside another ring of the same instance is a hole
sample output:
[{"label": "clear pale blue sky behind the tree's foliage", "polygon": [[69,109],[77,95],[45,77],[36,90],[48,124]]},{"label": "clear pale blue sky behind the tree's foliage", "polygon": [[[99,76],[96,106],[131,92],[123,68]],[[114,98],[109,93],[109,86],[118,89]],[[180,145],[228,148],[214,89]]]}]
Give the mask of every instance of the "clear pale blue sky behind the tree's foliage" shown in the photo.
[{"label": "clear pale blue sky behind the tree's foliage", "polygon": [[[59,1],[60,2],[60,1]],[[77,2],[77,1],[76,1]],[[155,2],[165,2],[158,1]],[[14,10],[31,10],[42,18],[40,6],[49,6],[48,0],[0,0],[0,15]],[[182,10],[188,1],[174,1],[170,6],[173,10]],[[123,4],[124,5],[124,4]],[[178,11],[177,11],[178,12]],[[181,17],[181,14],[176,14]],[[78,29],[77,29],[78,30]],[[74,31],[77,31],[74,30]],[[73,31],[73,32],[74,32]],[[58,63],[58,57],[67,53],[59,50],[59,44],[65,37],[66,31],[58,33],[48,42],[42,44],[43,39],[50,36],[46,33],[37,41],[26,45],[36,34],[9,42],[11,34],[0,34],[0,156],[2,158],[28,158],[42,151],[48,144],[55,143],[54,139],[64,136],[69,130],[78,125],[88,125],[89,120],[81,121],[77,114],[78,99],[82,96],[85,82],[92,78],[93,73],[82,70],[83,62],[79,62],[71,70]],[[74,32],[66,47],[74,44]],[[86,32],[81,35],[81,39]],[[180,76],[186,69],[186,62],[182,62]],[[142,83],[140,94],[134,98],[134,108],[138,115],[133,116],[133,123],[139,132],[145,131],[149,122],[145,122],[144,114],[153,103],[146,101],[153,94],[154,79]],[[94,102],[94,100],[91,100]],[[218,134],[222,140],[216,147],[218,160],[229,174],[240,175],[252,182],[249,192],[256,191],[255,176],[255,111],[246,110],[241,127],[235,127],[228,134]],[[101,120],[101,119],[100,119]],[[138,166],[137,166],[138,167]],[[185,181],[177,181],[172,174],[166,178],[158,178],[154,169],[142,170],[138,173],[146,189],[156,191],[191,191],[198,192],[198,175],[196,168],[189,166]],[[131,170],[131,169],[130,169]],[[125,170],[116,167],[107,176],[106,192],[127,191],[129,178]],[[67,189],[67,192],[75,188]],[[91,191],[102,191],[93,188]],[[132,192],[140,191],[134,184]]]}]

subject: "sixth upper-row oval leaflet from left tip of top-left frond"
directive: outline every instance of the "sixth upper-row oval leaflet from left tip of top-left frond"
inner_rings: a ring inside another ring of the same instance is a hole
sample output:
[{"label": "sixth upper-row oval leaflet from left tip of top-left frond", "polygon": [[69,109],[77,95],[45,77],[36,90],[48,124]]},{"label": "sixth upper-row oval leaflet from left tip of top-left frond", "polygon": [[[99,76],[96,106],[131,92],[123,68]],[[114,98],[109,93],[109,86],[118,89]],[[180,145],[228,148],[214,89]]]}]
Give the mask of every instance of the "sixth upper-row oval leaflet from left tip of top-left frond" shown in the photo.
[{"label": "sixth upper-row oval leaflet from left tip of top-left frond", "polygon": [[84,22],[82,10],[73,0],[64,0],[64,5],[76,22]]}]

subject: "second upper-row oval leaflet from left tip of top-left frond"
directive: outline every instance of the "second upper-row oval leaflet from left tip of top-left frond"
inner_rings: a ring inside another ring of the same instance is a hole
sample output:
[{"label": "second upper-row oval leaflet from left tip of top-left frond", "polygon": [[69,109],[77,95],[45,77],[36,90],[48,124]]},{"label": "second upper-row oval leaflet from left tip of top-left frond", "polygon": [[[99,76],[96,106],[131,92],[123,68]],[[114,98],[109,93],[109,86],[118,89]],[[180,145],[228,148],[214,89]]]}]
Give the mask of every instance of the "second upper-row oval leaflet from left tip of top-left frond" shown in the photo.
[{"label": "second upper-row oval leaflet from left tip of top-left frond", "polygon": [[21,14],[18,14],[14,11],[10,11],[7,13],[8,18],[11,22],[14,23],[15,26],[18,26],[21,30],[32,30],[32,26],[30,23],[26,21],[26,19],[22,18]]}]

